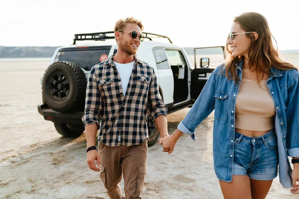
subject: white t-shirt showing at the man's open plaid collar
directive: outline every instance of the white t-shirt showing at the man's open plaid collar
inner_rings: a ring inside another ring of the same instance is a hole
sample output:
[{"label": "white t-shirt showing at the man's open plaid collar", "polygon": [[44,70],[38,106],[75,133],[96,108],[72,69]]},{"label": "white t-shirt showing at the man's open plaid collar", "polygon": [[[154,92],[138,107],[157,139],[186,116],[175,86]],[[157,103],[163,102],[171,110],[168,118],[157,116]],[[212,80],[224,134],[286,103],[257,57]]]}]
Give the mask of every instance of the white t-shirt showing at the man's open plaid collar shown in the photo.
[{"label": "white t-shirt showing at the man's open plaid collar", "polygon": [[132,74],[132,70],[133,70],[133,67],[134,67],[135,60],[131,63],[128,63],[128,64],[119,64],[119,63],[116,63],[116,62],[114,62],[114,63],[116,65],[116,68],[117,68],[120,76],[121,76],[121,80],[122,80],[121,84],[122,84],[124,96],[126,96],[127,87],[128,87],[128,84],[129,84],[131,74]]}]

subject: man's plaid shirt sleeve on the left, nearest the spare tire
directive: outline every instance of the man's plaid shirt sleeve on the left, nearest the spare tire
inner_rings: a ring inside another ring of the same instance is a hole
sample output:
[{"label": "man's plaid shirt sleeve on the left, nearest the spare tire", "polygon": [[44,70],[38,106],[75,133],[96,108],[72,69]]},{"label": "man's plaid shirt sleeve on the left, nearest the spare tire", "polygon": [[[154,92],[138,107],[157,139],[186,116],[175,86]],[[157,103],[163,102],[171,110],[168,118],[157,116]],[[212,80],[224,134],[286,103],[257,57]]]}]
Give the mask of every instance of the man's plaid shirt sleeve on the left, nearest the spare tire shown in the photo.
[{"label": "man's plaid shirt sleeve on the left, nearest the spare tire", "polygon": [[84,127],[88,124],[97,124],[99,128],[102,110],[102,98],[97,85],[95,68],[90,71],[86,87],[85,109],[82,116]]}]

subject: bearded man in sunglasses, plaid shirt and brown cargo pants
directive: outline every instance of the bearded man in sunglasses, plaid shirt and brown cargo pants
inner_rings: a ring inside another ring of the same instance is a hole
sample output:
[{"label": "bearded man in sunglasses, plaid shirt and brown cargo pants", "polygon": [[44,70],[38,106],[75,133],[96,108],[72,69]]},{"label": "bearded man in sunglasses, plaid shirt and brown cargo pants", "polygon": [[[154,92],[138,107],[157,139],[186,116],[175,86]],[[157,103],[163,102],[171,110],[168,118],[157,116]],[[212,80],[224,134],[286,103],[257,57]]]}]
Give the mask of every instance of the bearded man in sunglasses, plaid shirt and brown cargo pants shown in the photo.
[{"label": "bearded man in sunglasses, plaid shirt and brown cargo pants", "polygon": [[[82,121],[88,167],[100,171],[111,199],[122,198],[122,175],[126,199],[142,199],[148,157],[148,111],[160,137],[168,136],[167,107],[158,92],[154,69],[136,57],[144,39],[142,30],[141,21],[133,17],[117,21],[114,32],[118,51],[91,69],[87,84]],[[98,152],[93,150],[97,129]]]}]

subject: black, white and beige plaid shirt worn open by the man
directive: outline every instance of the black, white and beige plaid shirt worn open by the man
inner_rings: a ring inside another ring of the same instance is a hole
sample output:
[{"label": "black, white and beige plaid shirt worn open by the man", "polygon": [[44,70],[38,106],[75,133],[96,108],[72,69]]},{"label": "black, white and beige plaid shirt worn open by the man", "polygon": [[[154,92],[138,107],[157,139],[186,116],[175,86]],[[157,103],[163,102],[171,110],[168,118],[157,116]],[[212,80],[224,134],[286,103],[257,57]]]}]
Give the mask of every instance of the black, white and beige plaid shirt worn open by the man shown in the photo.
[{"label": "black, white and beige plaid shirt worn open by the man", "polygon": [[124,96],[113,56],[90,71],[82,121],[84,126],[98,125],[98,139],[105,145],[140,144],[149,138],[148,111],[154,120],[159,115],[166,115],[167,107],[158,92],[153,68],[136,56]]}]

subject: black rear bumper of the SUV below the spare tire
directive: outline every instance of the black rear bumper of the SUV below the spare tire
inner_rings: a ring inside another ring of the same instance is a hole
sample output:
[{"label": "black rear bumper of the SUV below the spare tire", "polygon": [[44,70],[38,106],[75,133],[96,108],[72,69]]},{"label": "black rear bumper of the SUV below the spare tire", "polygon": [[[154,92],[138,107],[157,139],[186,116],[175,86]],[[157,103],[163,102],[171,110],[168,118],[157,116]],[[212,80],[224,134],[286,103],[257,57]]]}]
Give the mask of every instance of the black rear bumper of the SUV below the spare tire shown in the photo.
[{"label": "black rear bumper of the SUV below the spare tire", "polygon": [[38,104],[37,105],[38,113],[41,114],[45,120],[56,121],[61,123],[70,123],[70,124],[83,124],[82,115],[83,112],[57,112],[51,109],[47,104]]}]

